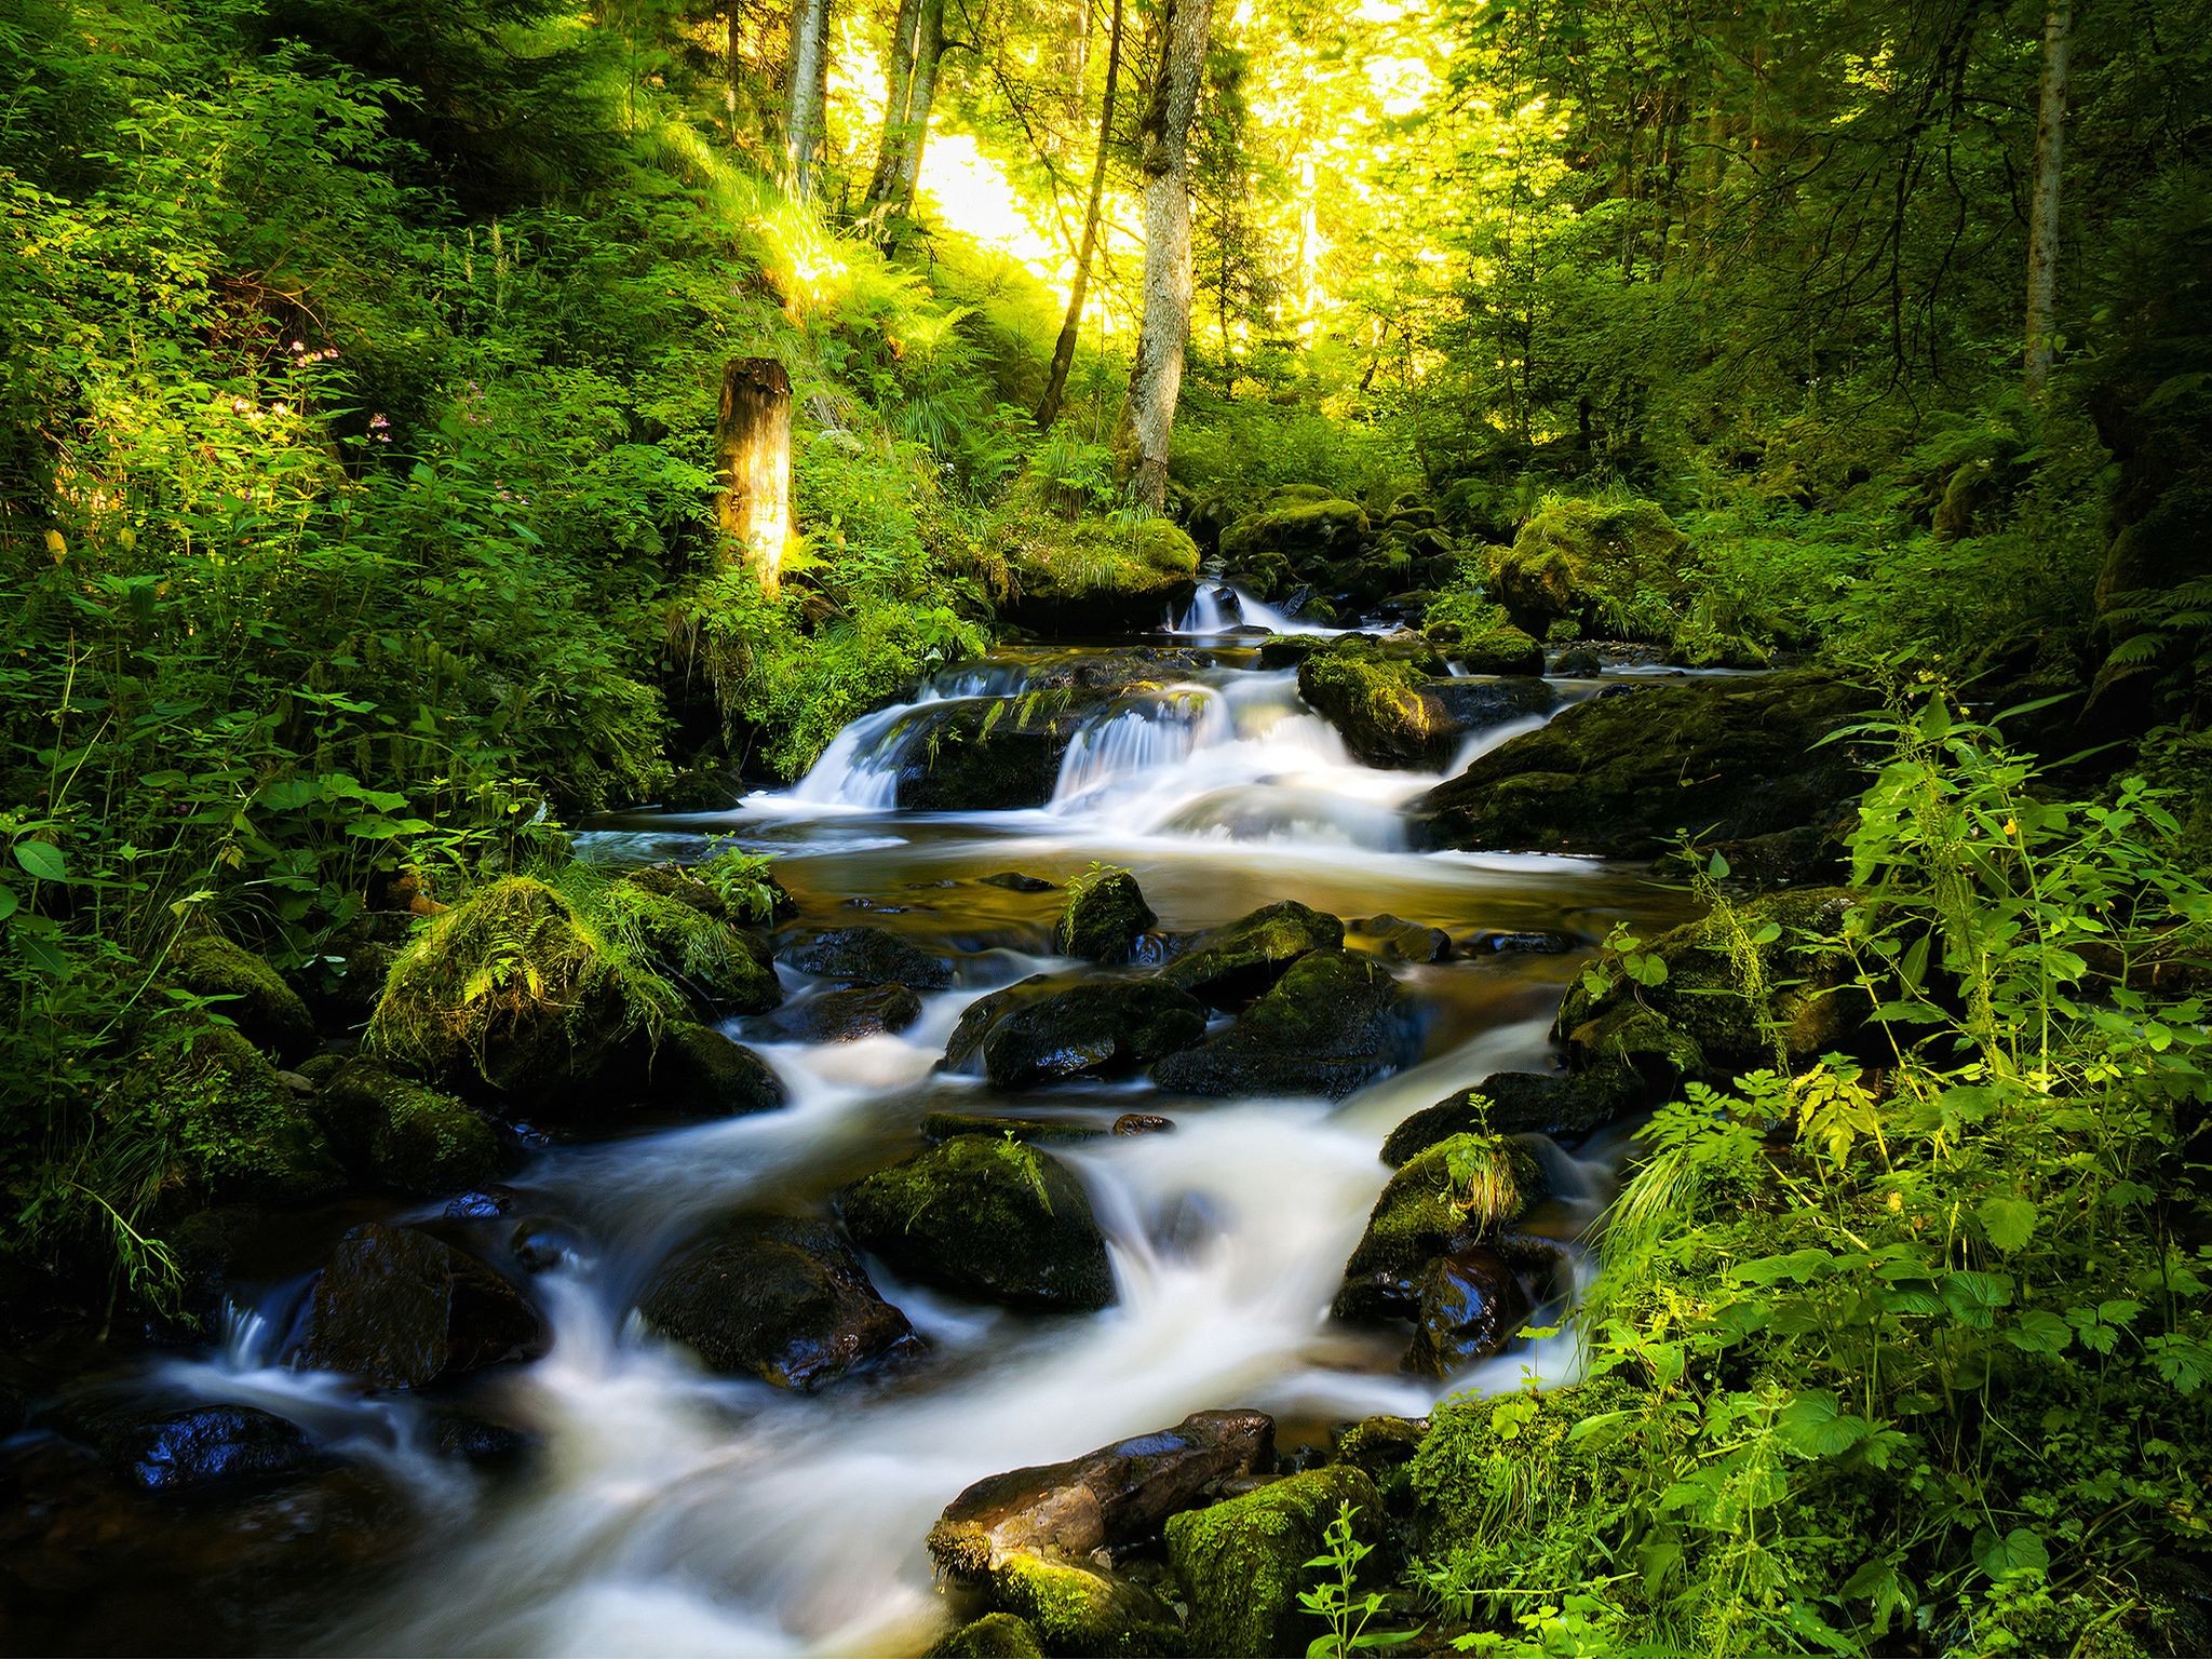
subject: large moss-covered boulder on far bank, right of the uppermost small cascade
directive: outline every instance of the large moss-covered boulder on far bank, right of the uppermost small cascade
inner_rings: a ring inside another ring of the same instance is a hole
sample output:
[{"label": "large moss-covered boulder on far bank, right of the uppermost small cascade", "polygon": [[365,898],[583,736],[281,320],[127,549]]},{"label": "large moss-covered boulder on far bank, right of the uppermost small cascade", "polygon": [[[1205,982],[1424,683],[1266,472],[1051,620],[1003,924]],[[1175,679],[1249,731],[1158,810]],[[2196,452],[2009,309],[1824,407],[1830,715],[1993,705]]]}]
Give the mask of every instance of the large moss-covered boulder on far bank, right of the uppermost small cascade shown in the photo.
[{"label": "large moss-covered boulder on far bank, right of the uppermost small cascade", "polygon": [[1688,542],[1652,502],[1548,502],[1491,557],[1491,595],[1535,637],[1557,622],[1606,639],[1672,637]]}]

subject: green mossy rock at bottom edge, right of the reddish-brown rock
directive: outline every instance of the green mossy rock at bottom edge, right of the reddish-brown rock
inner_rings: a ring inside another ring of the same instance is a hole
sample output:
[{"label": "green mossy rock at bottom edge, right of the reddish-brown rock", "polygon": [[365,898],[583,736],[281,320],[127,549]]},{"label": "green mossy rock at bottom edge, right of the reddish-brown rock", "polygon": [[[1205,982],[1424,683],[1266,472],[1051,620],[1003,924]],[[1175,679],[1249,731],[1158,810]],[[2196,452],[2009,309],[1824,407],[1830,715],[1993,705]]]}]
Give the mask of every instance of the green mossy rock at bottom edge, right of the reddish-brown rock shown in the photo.
[{"label": "green mossy rock at bottom edge, right of the reddish-brown rock", "polygon": [[1321,1555],[1323,1533],[1345,1504],[1358,1511],[1354,1531],[1371,1540],[1383,1524],[1383,1498],[1349,1464],[1310,1469],[1172,1517],[1168,1564],[1190,1604],[1188,1652],[1225,1659],[1305,1652],[1323,1626],[1298,1606],[1298,1590],[1314,1586],[1316,1568],[1307,1562]]}]

